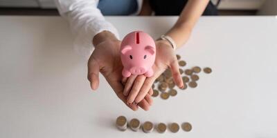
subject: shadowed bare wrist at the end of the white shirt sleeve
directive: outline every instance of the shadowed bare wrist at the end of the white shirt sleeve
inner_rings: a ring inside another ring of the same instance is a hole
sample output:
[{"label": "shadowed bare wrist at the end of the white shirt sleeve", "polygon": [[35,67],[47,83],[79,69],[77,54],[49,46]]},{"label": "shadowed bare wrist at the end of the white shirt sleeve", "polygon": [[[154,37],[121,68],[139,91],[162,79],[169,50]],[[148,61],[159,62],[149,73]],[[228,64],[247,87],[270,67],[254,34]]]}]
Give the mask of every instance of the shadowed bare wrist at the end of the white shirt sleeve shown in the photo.
[{"label": "shadowed bare wrist at the end of the white shirt sleeve", "polygon": [[102,43],[103,41],[119,41],[119,40],[116,38],[116,36],[113,33],[107,30],[99,32],[92,39],[92,43],[94,46],[97,46],[99,43]]}]

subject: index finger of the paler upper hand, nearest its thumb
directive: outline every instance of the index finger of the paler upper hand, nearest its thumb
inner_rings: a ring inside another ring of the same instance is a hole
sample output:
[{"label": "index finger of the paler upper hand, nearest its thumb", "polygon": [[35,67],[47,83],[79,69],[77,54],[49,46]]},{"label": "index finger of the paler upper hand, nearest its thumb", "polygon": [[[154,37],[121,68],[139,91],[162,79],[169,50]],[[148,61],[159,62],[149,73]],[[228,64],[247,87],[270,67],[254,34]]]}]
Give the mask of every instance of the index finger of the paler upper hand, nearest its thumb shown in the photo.
[{"label": "index finger of the paler upper hand, nearest its thumb", "polygon": [[155,77],[148,77],[145,79],[139,94],[134,99],[134,102],[139,103],[142,99],[144,99],[145,95],[148,94],[149,90],[152,89],[152,84],[155,81]]}]

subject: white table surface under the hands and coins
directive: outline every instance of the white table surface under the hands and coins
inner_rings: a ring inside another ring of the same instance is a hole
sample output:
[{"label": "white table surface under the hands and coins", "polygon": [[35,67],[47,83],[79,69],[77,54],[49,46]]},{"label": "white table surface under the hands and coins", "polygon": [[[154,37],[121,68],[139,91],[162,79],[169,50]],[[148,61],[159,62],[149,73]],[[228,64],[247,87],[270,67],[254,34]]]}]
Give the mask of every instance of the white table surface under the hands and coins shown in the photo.
[{"label": "white table surface under the hands and coins", "polygon": [[[177,17],[107,17],[120,35],[158,37]],[[129,110],[105,79],[91,92],[87,60],[60,17],[0,17],[0,137],[277,137],[276,17],[202,17],[177,50],[188,66],[209,66],[199,86],[148,112]],[[181,124],[191,132],[120,132],[118,115]]]}]

